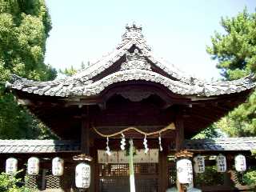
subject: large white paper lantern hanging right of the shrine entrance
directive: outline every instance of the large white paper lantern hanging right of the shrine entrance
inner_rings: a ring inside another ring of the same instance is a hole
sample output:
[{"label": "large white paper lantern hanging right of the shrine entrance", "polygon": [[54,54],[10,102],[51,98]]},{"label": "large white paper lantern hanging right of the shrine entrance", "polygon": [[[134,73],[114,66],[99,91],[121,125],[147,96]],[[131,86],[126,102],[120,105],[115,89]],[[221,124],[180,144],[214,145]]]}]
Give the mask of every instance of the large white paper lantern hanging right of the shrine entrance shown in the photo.
[{"label": "large white paper lantern hanging right of the shrine entrance", "polygon": [[177,162],[178,182],[187,184],[193,182],[193,167],[189,159],[180,159]]}]

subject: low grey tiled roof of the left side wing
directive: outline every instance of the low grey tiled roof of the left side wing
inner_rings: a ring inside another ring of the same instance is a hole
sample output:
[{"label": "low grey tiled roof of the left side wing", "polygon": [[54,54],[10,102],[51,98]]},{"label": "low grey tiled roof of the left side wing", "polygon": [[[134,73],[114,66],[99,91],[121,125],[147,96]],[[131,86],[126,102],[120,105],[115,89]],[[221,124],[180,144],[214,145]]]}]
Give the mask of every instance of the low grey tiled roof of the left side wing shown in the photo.
[{"label": "low grey tiled roof of the left side wing", "polygon": [[0,140],[0,154],[37,154],[80,151],[80,143],[56,140]]}]

